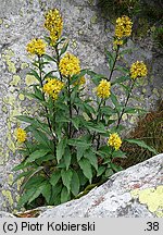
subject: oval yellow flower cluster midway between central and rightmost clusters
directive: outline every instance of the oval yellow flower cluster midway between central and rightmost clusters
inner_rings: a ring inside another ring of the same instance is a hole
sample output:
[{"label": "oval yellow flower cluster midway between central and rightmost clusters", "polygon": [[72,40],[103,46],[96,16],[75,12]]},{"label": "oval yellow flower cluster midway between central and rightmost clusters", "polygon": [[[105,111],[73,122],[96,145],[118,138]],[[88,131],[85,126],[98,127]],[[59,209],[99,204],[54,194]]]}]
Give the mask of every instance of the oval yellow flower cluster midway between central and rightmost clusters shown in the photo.
[{"label": "oval yellow flower cluster midway between central and rightmost clusters", "polygon": [[106,79],[102,79],[99,86],[96,88],[97,96],[100,98],[108,98],[111,95],[111,83]]}]

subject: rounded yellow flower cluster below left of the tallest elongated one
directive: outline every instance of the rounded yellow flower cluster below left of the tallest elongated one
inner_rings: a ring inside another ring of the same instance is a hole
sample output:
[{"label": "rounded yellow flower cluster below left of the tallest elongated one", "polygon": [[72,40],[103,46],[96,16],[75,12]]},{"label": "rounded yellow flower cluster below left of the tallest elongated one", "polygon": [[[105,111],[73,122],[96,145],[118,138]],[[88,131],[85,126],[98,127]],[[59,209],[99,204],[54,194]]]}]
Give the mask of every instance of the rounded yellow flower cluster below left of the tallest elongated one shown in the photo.
[{"label": "rounded yellow flower cluster below left of the tallest elongated one", "polygon": [[30,54],[41,57],[46,52],[46,44],[42,39],[34,38],[28,42],[26,50]]}]

